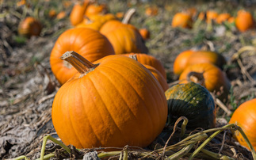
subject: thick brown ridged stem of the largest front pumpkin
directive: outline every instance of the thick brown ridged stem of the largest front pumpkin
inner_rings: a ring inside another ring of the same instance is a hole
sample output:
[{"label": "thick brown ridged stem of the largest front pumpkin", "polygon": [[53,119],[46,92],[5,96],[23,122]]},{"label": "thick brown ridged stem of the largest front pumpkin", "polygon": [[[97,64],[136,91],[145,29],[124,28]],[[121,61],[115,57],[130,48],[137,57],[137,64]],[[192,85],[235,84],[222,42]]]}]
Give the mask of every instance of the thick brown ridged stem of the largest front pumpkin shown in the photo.
[{"label": "thick brown ridged stem of the largest front pumpkin", "polygon": [[71,63],[73,67],[81,74],[80,77],[86,75],[90,71],[94,70],[98,64],[90,63],[87,59],[79,55],[75,51],[67,51],[64,53],[60,59],[66,60],[68,63]]}]

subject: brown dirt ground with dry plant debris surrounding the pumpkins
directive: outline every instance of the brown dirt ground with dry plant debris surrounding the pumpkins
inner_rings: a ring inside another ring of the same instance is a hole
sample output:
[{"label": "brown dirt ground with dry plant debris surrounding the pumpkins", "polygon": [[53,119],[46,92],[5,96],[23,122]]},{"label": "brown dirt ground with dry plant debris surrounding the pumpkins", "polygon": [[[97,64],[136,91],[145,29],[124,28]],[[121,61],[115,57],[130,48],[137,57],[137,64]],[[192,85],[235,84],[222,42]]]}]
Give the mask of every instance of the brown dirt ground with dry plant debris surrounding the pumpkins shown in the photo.
[{"label": "brown dirt ground with dry plant debris surrounding the pumpkins", "polygon": [[[31,3],[30,9],[25,9],[26,6],[16,6],[14,1],[0,1],[0,158],[2,159],[21,155],[32,159],[39,158],[44,136],[52,135],[58,139],[52,125],[51,112],[52,101],[60,85],[52,74],[49,56],[55,40],[63,31],[72,27],[68,17],[71,6],[67,8],[58,6],[59,1],[28,2]],[[166,1],[150,2],[108,1],[109,12],[125,12],[129,7],[136,8],[136,15],[132,17],[130,23],[137,28],[150,30],[151,38],[146,41],[149,54],[154,55],[164,64],[170,86],[178,80],[178,76],[173,73],[176,56],[190,48],[204,49],[219,52],[227,59],[224,72],[231,81],[232,88],[224,105],[229,111],[234,112],[241,103],[255,97],[256,32],[254,29],[239,32],[235,29],[235,25],[213,24],[212,29],[207,30],[208,26],[205,22],[201,22],[196,29],[174,29],[170,26],[174,13],[191,6],[199,11],[212,9],[219,13],[229,12],[234,16],[237,10],[246,9],[256,15],[251,8],[254,3],[249,7],[245,3],[229,1],[198,4],[190,4],[186,1],[170,4]],[[65,10],[67,16],[61,20],[46,17],[45,14],[51,5],[59,11]],[[158,6],[158,14],[151,17],[145,15],[147,6]],[[40,17],[44,25],[40,36],[32,36],[28,39],[18,36],[17,26],[21,19],[35,14]],[[236,58],[235,55],[244,47],[247,48],[246,51]],[[231,115],[227,116],[227,112],[219,106],[217,110],[218,120],[222,120],[222,124],[218,125],[227,124]],[[223,135],[213,143],[221,143],[221,138]],[[243,154],[239,158],[252,158],[250,152],[239,147],[235,140],[228,144],[239,148],[238,153]],[[46,154],[59,148],[54,143],[48,143],[47,147]]]}]

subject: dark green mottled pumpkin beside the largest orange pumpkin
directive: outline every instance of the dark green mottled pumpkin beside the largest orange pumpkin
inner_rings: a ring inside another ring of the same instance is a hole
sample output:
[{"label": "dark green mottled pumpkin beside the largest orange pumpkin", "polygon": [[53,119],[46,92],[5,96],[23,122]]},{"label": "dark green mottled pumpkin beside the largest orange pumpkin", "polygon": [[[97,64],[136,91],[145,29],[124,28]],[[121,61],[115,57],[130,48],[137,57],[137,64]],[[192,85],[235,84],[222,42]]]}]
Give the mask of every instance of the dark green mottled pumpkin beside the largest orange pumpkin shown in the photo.
[{"label": "dark green mottled pumpkin beside the largest orange pumpkin", "polygon": [[194,82],[178,84],[166,90],[168,118],[170,122],[180,116],[188,118],[187,128],[214,128],[216,124],[216,105],[211,93]]}]

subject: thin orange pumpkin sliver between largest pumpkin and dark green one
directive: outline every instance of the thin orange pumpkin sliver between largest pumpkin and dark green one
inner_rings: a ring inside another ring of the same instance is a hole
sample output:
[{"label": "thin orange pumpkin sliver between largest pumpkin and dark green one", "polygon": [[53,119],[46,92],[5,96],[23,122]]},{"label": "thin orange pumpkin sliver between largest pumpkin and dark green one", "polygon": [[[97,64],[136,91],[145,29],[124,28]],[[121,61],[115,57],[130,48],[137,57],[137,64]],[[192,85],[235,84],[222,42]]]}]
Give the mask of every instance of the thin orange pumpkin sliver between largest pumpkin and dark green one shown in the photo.
[{"label": "thin orange pumpkin sliver between largest pumpkin and dark green one", "polygon": [[160,85],[162,86],[162,90],[166,91],[169,89],[168,83],[166,82],[166,78],[162,76],[162,74],[159,72],[159,70],[156,70],[154,67],[151,67],[149,65],[143,65],[147,68],[147,70],[151,71],[151,74],[154,75],[154,77],[159,81]]}]

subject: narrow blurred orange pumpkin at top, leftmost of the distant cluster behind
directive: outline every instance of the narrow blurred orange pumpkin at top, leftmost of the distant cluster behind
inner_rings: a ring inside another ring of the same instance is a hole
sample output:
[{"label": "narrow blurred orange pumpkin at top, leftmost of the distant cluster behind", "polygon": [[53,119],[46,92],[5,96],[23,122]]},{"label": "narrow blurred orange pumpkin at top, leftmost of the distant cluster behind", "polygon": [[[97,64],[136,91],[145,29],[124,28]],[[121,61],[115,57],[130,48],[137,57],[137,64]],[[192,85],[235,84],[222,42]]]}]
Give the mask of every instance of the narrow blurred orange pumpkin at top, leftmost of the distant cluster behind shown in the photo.
[{"label": "narrow blurred orange pumpkin at top, leftmost of the distant cluster behind", "polygon": [[90,0],[78,2],[73,6],[70,15],[71,25],[78,25],[82,22],[83,16],[86,13],[86,8],[90,5]]}]

